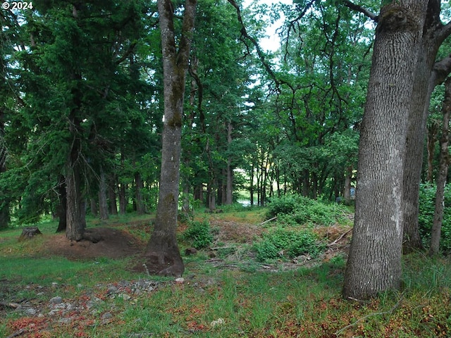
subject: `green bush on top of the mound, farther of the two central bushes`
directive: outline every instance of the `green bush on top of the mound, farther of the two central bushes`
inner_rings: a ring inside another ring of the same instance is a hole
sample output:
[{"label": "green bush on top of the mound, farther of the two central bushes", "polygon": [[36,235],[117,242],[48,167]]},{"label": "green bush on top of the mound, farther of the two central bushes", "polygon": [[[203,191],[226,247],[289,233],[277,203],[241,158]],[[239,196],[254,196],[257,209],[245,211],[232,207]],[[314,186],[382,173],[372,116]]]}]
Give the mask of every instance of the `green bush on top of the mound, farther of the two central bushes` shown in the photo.
[{"label": "green bush on top of the mound, farther of the two central bushes", "polygon": [[347,213],[345,206],[325,204],[300,195],[286,195],[271,199],[266,219],[278,216],[280,223],[289,225],[330,225],[340,223],[344,213]]}]

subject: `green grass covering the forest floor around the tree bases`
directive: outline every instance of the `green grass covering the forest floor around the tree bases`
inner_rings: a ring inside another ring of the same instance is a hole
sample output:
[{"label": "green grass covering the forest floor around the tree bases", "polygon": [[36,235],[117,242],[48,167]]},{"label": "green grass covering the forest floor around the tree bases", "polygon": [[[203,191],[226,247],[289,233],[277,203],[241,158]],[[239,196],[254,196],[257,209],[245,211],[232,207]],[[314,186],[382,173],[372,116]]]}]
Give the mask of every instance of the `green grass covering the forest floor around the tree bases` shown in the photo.
[{"label": "green grass covering the forest floor around the tree bases", "polygon": [[[241,213],[248,213],[242,215]],[[242,217],[241,217],[242,215]],[[225,211],[208,217],[217,222],[261,223],[264,210]],[[202,215],[202,218],[206,217]],[[94,224],[93,224],[94,223]],[[93,220],[148,237],[149,219]],[[266,224],[268,225],[268,224]],[[131,273],[132,258],[70,261],[42,256],[42,246],[56,223],[39,224],[44,233],[17,242],[20,229],[0,232],[0,302],[27,299],[44,308],[53,296],[65,301],[99,299],[96,306],[60,318],[39,318],[0,306],[0,337],[20,328],[20,337],[450,337],[451,263],[422,253],[405,256],[404,289],[368,302],[340,296],[345,259],[337,255],[312,268],[262,268],[244,251],[240,263],[209,261],[208,250],[184,257],[185,282]],[[237,244],[237,246],[239,246]],[[236,253],[235,253],[236,256]],[[281,262],[280,262],[281,264]],[[106,296],[109,284],[152,279],[159,287],[130,299]],[[39,305],[40,304],[40,305]],[[46,312],[47,311],[47,312]],[[108,320],[102,319],[111,314]]]}]

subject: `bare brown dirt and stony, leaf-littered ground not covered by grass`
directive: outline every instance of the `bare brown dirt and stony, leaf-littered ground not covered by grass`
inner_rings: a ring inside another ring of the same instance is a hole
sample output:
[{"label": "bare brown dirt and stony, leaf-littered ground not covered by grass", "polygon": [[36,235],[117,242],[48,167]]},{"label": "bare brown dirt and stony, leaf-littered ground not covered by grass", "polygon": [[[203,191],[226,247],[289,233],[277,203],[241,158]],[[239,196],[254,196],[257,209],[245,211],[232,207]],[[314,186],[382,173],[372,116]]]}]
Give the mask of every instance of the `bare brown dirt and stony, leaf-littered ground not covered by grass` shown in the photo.
[{"label": "bare brown dirt and stony, leaf-littered ground not covered by grass", "polygon": [[[214,243],[204,253],[198,254],[206,257],[206,265],[214,266],[220,270],[240,270],[246,264],[251,264],[254,268],[257,266],[257,269],[264,271],[295,270],[301,265],[319,265],[338,253],[345,253],[350,238],[349,227],[333,225],[319,228],[317,229],[319,237],[324,238],[329,244],[326,253],[321,258],[310,260],[306,257],[302,261],[279,261],[273,264],[258,263],[255,265],[252,253],[249,250],[241,250],[241,248],[245,248],[248,244],[252,244],[255,239],[261,237],[262,232],[266,231],[265,227],[255,223],[241,223],[235,220],[217,218],[211,218],[211,227],[215,234]],[[80,242],[69,241],[65,234],[44,234],[42,247],[45,249],[39,251],[39,254],[44,253],[44,256],[52,257],[64,256],[77,261],[136,257],[136,259],[124,261],[136,264],[145,249],[150,236],[150,229],[149,220],[141,220],[136,224],[128,223],[124,225],[118,223],[116,225],[113,223],[109,224],[109,227],[90,227],[86,231],[86,239]],[[180,225],[178,231],[183,232],[185,229],[185,225]],[[228,249],[232,250],[228,251]],[[227,253],[224,254],[224,252]],[[125,268],[130,270],[130,268],[135,267],[128,266]],[[191,266],[191,268],[193,267]],[[23,286],[19,287],[14,280],[0,280],[0,319],[6,318],[7,313],[11,311],[16,311],[18,314],[16,319],[11,319],[8,322],[8,330],[12,332],[7,336],[8,338],[56,337],[55,334],[59,332],[57,330],[62,330],[61,332],[72,330],[74,334],[80,334],[73,337],[89,337],[83,332],[87,327],[92,327],[94,323],[102,327],[120,325],[121,315],[116,308],[115,299],[120,298],[125,302],[135,302],[138,297],[153,294],[156,289],[167,285],[183,289],[184,283],[186,285],[192,284],[198,294],[203,294],[205,289],[211,287],[212,283],[216,283],[212,277],[196,276],[195,269],[191,269],[190,274],[184,277],[185,279],[181,279],[181,281],[175,279],[156,281],[152,277],[144,275],[137,280],[121,280],[120,282],[108,278],[107,280],[99,280],[97,284],[91,287],[79,284],[77,286],[78,292],[74,292],[74,287],[66,284],[63,279],[56,279],[51,282],[51,285],[32,282],[27,284],[25,289]],[[24,293],[39,295],[39,297],[15,296]],[[73,296],[68,297],[72,294]],[[99,308],[101,313],[99,313]],[[188,311],[188,313],[194,315],[195,311]],[[196,326],[194,329],[199,330],[199,327]],[[130,337],[150,336],[132,335]]]}]

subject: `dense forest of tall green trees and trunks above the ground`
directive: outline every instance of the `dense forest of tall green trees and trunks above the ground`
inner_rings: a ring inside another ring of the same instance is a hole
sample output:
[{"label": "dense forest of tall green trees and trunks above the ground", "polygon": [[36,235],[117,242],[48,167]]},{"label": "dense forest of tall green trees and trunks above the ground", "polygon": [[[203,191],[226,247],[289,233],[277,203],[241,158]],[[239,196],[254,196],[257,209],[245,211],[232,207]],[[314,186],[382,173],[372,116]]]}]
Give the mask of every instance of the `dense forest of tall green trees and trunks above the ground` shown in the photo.
[{"label": "dense forest of tall green trees and trunks above the ground", "polygon": [[354,213],[342,296],[400,290],[403,253],[449,249],[450,18],[445,0],[5,2],[0,230],[53,218],[80,242],[87,218],[155,214],[143,266],[180,277],[194,210],[321,201]]}]

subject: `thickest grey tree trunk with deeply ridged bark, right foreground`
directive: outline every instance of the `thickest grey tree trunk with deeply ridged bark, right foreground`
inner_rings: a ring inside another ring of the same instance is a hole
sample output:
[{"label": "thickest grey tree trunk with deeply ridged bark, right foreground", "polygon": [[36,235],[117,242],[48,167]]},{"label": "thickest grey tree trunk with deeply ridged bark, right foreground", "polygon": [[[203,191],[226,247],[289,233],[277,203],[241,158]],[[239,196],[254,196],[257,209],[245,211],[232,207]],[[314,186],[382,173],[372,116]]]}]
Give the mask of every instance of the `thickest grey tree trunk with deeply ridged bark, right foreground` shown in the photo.
[{"label": "thickest grey tree trunk with deeply ridged bark, right foreground", "polygon": [[402,179],[407,119],[428,0],[381,8],[359,144],[354,230],[343,296],[401,286]]}]

